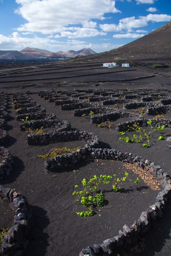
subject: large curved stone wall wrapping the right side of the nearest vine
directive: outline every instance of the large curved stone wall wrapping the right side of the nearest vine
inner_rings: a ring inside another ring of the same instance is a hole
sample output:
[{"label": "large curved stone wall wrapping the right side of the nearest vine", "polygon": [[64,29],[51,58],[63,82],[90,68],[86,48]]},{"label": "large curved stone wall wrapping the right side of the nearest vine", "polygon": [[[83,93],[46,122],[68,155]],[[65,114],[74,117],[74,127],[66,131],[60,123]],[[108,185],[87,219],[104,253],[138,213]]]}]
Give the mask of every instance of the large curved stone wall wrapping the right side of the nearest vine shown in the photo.
[{"label": "large curved stone wall wrapping the right side of the nearest vine", "polygon": [[[91,148],[93,151],[93,149]],[[94,244],[86,249],[82,249],[80,256],[110,256],[121,254],[130,249],[131,245],[138,244],[139,241],[154,226],[154,222],[161,218],[165,212],[165,203],[171,198],[171,177],[164,172],[161,166],[155,166],[148,160],[138,157],[130,153],[122,153],[115,149],[94,149],[93,158],[120,160],[122,162],[131,163],[145,169],[147,173],[152,175],[159,181],[163,190],[159,192],[156,203],[150,206],[145,212],[142,212],[138,221],[132,226],[124,225],[123,230],[119,230],[119,235],[111,239],[106,239],[102,244]]]}]

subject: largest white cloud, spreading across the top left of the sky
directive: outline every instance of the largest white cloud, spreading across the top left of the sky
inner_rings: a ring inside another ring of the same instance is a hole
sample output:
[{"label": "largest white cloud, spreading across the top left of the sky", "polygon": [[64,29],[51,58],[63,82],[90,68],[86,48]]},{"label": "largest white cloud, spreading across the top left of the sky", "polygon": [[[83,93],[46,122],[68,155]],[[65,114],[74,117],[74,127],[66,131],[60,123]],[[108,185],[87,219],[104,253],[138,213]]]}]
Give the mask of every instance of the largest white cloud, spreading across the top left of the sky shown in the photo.
[{"label": "largest white cloud, spreading across the top left of the sky", "polygon": [[104,14],[120,12],[114,0],[16,0],[16,3],[21,6],[15,12],[28,21],[17,30],[43,34],[68,32],[70,25],[95,28],[92,19],[104,20]]}]

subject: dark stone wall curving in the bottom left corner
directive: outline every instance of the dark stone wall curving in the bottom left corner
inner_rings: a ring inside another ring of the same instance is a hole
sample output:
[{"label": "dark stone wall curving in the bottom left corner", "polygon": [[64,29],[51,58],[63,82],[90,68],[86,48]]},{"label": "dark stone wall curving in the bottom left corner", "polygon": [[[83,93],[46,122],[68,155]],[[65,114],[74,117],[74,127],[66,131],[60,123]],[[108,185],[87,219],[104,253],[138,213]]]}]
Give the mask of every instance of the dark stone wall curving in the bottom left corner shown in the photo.
[{"label": "dark stone wall curving in the bottom left corner", "polygon": [[31,214],[28,210],[28,202],[25,196],[17,193],[15,189],[5,188],[0,185],[0,197],[6,200],[15,210],[14,225],[4,236],[0,247],[1,256],[22,256],[29,244],[27,240],[30,229]]}]

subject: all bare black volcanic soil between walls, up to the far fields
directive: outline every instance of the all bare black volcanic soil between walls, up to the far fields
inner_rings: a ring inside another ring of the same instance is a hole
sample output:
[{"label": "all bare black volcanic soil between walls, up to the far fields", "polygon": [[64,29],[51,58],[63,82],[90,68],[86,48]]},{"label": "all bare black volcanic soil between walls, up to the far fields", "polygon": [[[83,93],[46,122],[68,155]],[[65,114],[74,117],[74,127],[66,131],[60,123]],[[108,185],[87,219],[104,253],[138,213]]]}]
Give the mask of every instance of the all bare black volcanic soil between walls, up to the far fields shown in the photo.
[{"label": "all bare black volcanic soil between walls, up to the far fields", "polygon": [[[74,90],[74,89],[160,89],[171,90],[171,79],[161,76],[151,78],[135,79],[149,76],[142,70],[132,70],[119,73],[118,69],[100,69],[98,61],[93,64],[47,64],[39,69],[19,71],[16,75],[0,77],[6,82],[0,84],[4,93],[40,91],[40,90]],[[81,70],[84,69],[85,70]],[[63,70],[62,70],[63,69]],[[91,70],[92,69],[92,70]],[[63,72],[64,79],[53,79],[54,76],[50,72],[59,77],[61,71],[70,70],[69,74],[77,74],[76,78],[67,78],[67,73]],[[100,74],[100,72],[106,72]],[[105,71],[106,70],[106,71]],[[112,71],[112,73],[109,73]],[[56,73],[55,73],[56,72]],[[90,73],[96,75],[90,75]],[[89,76],[81,76],[88,74]],[[44,75],[43,75],[44,74]],[[23,76],[26,81],[17,81]],[[29,81],[34,77],[40,77],[40,81]],[[43,76],[47,80],[43,80]],[[15,82],[12,82],[16,79]],[[28,79],[28,80],[27,80]],[[71,80],[72,79],[72,80]],[[104,82],[95,81],[96,79],[105,80]],[[130,81],[112,82],[109,80],[130,79]],[[10,82],[10,80],[12,80]],[[11,98],[11,97],[10,97]],[[46,109],[48,113],[56,113],[58,119],[64,119],[71,122],[72,129],[92,131],[99,135],[101,140],[101,148],[116,148],[123,152],[131,152],[154,161],[155,164],[161,165],[166,172],[170,173],[170,150],[166,149],[166,141],[157,140],[157,133],[153,134],[151,139],[151,148],[143,148],[140,143],[125,143],[119,141],[120,134],[115,131],[115,126],[119,122],[130,120],[130,118],[119,119],[113,123],[114,128],[111,131],[107,128],[99,128],[95,124],[90,123],[90,116],[74,117],[72,111],[61,111],[60,106],[54,106],[54,103],[46,102],[37,94],[31,95],[31,98],[41,107]],[[11,102],[10,102],[11,103]],[[106,106],[113,107],[113,105]],[[120,111],[123,111],[123,105],[120,105]],[[8,109],[10,115],[15,117],[15,111],[12,111],[11,105]],[[133,112],[133,110],[129,110]],[[129,112],[128,111],[128,112]],[[171,116],[171,112],[167,112],[167,117]],[[145,116],[146,117],[146,116]],[[148,116],[149,117],[149,116]],[[108,201],[104,208],[96,215],[90,218],[81,218],[76,215],[76,211],[84,210],[79,204],[73,204],[74,197],[72,192],[75,184],[80,183],[84,177],[90,178],[94,174],[110,174],[116,173],[121,175],[124,169],[122,163],[110,161],[92,162],[76,164],[72,168],[61,169],[49,174],[44,172],[44,160],[38,157],[38,154],[46,154],[51,148],[59,148],[67,146],[75,148],[84,146],[85,142],[69,142],[56,143],[46,146],[28,146],[26,143],[26,133],[20,131],[19,123],[12,118],[9,124],[10,143],[7,145],[9,151],[14,155],[14,168],[12,174],[7,180],[3,181],[5,186],[16,188],[17,192],[21,192],[28,198],[33,209],[32,221],[33,229],[29,236],[29,247],[26,256],[76,256],[82,248],[94,243],[101,243],[104,239],[113,237],[118,234],[122,226],[127,223],[133,224],[133,221],[139,218],[142,211],[147,209],[149,205],[154,204],[157,192],[141,183],[124,183],[122,186],[126,189],[122,193],[114,193],[111,188],[107,188],[105,199]],[[46,131],[54,130],[47,128]],[[131,133],[130,133],[131,135]],[[165,137],[171,136],[171,131],[166,130]],[[104,165],[101,165],[104,163]],[[80,169],[81,168],[81,169]],[[120,168],[120,169],[119,169]],[[76,171],[73,172],[73,170]],[[105,173],[104,173],[105,172]],[[120,174],[119,174],[120,173]],[[136,176],[130,172],[130,178],[136,179]],[[132,186],[132,187],[130,187]],[[105,189],[105,188],[104,188]],[[138,190],[137,190],[138,189]],[[71,206],[72,205],[72,206]],[[110,207],[112,206],[112,207]],[[6,206],[8,207],[8,206]],[[68,209],[66,209],[69,207]],[[0,215],[4,216],[7,208],[0,207]],[[100,214],[100,216],[99,216]],[[11,216],[11,212],[10,212]],[[10,226],[12,218],[6,218],[6,222],[2,222],[3,226]],[[122,218],[121,218],[122,216]],[[114,219],[114,221],[112,220]]]}]

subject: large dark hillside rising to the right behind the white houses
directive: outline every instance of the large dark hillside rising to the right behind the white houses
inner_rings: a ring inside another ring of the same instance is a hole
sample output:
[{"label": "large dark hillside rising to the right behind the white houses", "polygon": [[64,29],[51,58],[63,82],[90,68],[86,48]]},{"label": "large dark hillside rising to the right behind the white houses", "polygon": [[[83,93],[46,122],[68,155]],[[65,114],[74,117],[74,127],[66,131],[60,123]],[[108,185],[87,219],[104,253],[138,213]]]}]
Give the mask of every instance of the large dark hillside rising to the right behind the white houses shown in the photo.
[{"label": "large dark hillside rising to the right behind the white houses", "polygon": [[171,22],[122,47],[84,57],[81,62],[115,61],[115,58],[141,65],[171,64]]}]

